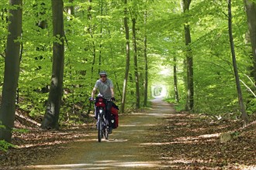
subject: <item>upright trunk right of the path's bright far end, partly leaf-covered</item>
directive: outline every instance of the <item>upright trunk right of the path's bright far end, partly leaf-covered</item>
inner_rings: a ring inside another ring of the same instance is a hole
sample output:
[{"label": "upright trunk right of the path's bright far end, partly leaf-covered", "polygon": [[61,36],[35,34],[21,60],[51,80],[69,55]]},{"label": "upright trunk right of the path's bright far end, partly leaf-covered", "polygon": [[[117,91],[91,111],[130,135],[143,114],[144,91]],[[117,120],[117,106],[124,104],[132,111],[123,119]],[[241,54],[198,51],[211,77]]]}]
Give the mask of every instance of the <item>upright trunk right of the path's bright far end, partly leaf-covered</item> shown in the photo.
[{"label": "upright trunk right of the path's bright far end, partly leaf-covered", "polygon": [[[189,12],[189,5],[191,0],[182,0],[182,8],[183,12]],[[185,30],[185,45],[187,46],[186,51],[186,67],[187,67],[187,103],[186,110],[192,111],[194,107],[194,78],[193,78],[193,57],[192,50],[190,47],[191,36],[190,36],[190,28],[189,21],[187,21],[184,25]]]}]

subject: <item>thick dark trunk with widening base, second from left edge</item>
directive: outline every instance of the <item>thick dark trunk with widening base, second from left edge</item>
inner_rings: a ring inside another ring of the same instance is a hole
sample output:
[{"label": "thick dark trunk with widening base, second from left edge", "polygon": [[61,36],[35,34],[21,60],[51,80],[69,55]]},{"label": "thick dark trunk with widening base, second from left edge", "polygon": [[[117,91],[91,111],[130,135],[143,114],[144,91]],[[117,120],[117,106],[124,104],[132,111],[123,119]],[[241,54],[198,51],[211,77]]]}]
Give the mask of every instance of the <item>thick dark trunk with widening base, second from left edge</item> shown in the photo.
[{"label": "thick dark trunk with widening base, second from left edge", "polygon": [[63,93],[64,74],[64,20],[63,0],[52,0],[54,41],[53,46],[53,67],[50,82],[50,93],[48,97],[46,113],[43,117],[41,128],[58,129],[59,114],[61,108],[61,97]]}]

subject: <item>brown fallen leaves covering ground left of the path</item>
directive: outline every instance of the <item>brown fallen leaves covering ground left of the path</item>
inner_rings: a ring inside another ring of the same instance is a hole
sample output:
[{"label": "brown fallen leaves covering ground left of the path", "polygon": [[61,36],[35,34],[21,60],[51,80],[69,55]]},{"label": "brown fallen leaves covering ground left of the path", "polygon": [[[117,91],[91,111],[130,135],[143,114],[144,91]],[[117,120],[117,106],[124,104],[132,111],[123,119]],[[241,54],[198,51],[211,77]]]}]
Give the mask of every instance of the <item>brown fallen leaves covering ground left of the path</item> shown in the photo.
[{"label": "brown fallen leaves covering ground left of the path", "polygon": [[28,133],[13,133],[12,143],[16,148],[0,152],[1,169],[19,169],[25,165],[43,162],[64,151],[65,145],[85,138],[92,131],[92,124],[62,128],[61,131],[42,131],[30,128]]}]

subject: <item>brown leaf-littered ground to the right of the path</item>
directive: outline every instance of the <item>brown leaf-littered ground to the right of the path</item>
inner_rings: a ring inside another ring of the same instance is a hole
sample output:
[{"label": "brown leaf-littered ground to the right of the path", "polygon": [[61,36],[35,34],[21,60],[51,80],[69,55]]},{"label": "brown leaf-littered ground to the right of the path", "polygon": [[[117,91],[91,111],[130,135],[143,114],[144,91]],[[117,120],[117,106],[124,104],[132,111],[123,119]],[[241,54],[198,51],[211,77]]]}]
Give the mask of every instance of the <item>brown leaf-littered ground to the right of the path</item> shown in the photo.
[{"label": "brown leaf-littered ground to the right of the path", "polygon": [[148,138],[154,156],[170,169],[256,169],[256,121],[242,128],[240,120],[177,112]]}]

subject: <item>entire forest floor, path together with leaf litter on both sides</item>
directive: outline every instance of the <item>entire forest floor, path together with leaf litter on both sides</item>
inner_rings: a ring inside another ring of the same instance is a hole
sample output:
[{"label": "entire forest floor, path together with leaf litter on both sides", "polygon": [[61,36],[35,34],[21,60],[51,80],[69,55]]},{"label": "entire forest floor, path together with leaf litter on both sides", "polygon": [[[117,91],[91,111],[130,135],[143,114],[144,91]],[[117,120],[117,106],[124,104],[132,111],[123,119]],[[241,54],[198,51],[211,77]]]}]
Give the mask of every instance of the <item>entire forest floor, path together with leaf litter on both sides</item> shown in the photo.
[{"label": "entire forest floor, path together with leaf litter on both sides", "polygon": [[121,114],[102,142],[95,122],[14,132],[16,148],[0,152],[0,169],[256,169],[256,124],[241,125],[156,99],[147,110]]}]

